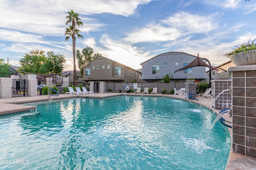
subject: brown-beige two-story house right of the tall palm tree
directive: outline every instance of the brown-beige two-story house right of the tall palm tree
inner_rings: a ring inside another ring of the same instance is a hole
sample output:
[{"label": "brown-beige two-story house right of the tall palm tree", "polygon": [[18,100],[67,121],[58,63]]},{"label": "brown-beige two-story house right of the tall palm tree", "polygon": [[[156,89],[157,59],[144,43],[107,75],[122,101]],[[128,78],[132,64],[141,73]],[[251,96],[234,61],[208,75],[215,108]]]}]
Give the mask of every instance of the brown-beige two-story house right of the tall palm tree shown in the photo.
[{"label": "brown-beige two-story house right of the tall palm tree", "polygon": [[97,57],[83,67],[84,76],[79,80],[104,82],[140,82],[141,72],[106,57]]}]

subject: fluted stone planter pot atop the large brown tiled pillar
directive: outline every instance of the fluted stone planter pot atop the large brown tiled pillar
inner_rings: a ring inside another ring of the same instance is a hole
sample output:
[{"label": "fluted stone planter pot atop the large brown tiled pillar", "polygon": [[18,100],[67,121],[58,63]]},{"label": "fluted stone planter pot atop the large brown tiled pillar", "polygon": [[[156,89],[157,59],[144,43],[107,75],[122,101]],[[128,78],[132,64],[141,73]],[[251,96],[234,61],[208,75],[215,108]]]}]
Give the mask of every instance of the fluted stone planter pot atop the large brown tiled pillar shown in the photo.
[{"label": "fluted stone planter pot atop the large brown tiled pillar", "polygon": [[256,50],[249,50],[245,52],[232,54],[229,56],[230,61],[236,66],[253,65],[256,64]]}]

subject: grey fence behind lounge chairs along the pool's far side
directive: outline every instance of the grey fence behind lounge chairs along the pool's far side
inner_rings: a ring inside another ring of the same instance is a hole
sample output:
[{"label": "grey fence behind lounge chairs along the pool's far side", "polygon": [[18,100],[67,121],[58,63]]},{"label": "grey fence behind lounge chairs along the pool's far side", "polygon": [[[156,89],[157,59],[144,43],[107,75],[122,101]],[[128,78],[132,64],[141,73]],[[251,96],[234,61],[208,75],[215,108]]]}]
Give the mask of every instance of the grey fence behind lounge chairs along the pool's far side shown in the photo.
[{"label": "grey fence behind lounge chairs along the pool's far side", "polygon": [[[130,89],[134,90],[134,84],[133,83],[105,83],[105,92],[111,91],[111,92],[126,92],[125,86],[129,86]],[[138,87],[141,87],[141,90],[143,91],[145,87],[151,88],[157,88],[158,93],[162,93],[162,90],[166,90],[167,92],[170,92],[170,90],[176,88],[185,88],[184,83],[137,83]],[[110,89],[110,90],[108,90]]]}]

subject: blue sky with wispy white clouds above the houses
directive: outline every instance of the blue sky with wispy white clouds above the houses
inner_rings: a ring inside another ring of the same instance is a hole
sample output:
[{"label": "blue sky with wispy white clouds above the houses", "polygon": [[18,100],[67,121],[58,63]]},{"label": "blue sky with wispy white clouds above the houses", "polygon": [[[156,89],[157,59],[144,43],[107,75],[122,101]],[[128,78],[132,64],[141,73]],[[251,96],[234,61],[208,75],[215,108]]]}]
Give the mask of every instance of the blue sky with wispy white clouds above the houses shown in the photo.
[{"label": "blue sky with wispy white clouds above the houses", "polygon": [[72,39],[64,35],[70,10],[84,24],[76,49],[92,47],[134,69],[170,51],[217,66],[256,38],[255,0],[1,0],[0,59],[19,66],[33,49],[54,51],[67,60],[64,70],[73,70]]}]

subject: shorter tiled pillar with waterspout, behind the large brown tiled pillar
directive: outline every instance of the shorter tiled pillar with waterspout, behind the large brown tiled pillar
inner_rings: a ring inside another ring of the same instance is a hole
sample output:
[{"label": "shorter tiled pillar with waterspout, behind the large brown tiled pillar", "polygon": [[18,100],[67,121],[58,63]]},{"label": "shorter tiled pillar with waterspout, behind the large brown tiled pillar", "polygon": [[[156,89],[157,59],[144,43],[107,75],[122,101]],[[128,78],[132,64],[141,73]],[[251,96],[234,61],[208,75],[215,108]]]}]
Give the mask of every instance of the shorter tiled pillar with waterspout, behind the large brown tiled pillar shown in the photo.
[{"label": "shorter tiled pillar with waterspout, behind the large brown tiled pillar", "polygon": [[222,110],[231,108],[231,94],[230,91],[223,90],[229,89],[231,86],[231,80],[212,80],[212,102],[216,97],[222,93],[214,102],[214,109]]}]

